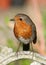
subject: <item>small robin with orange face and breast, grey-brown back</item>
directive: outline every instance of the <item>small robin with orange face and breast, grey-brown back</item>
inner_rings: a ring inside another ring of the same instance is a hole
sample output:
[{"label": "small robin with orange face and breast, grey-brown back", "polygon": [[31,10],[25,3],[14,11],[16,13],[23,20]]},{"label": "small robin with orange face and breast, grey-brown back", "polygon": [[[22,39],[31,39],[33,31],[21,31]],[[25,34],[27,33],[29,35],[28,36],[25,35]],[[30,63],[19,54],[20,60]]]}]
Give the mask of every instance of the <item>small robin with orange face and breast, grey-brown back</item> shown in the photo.
[{"label": "small robin with orange face and breast, grey-brown back", "polygon": [[29,51],[30,44],[37,42],[36,25],[28,15],[23,13],[18,13],[10,21],[14,21],[13,32],[17,40],[22,43],[23,51]]}]

